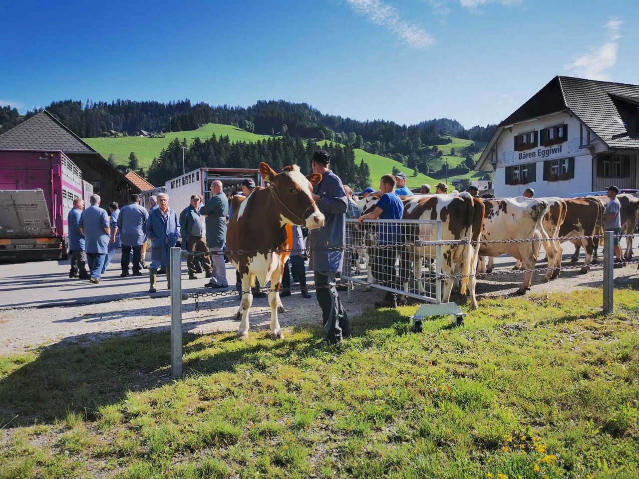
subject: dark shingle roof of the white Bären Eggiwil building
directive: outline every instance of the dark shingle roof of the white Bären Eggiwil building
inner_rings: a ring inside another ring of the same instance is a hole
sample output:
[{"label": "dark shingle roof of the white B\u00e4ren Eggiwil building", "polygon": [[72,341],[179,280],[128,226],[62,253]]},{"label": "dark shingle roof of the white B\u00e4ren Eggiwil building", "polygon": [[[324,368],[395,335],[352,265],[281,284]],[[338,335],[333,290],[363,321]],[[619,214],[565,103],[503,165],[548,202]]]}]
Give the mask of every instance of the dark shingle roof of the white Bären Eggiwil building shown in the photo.
[{"label": "dark shingle roof of the white B\u00e4ren Eggiwil building", "polygon": [[557,76],[499,126],[570,110],[608,148],[639,148],[639,85]]}]

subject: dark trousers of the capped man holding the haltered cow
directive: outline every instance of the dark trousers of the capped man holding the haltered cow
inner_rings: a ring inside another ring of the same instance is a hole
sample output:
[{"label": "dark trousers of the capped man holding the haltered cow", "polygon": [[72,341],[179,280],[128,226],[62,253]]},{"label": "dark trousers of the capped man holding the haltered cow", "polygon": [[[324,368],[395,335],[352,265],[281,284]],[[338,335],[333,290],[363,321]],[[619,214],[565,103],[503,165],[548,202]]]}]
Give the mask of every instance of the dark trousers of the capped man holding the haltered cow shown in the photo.
[{"label": "dark trousers of the capped man holding the haltered cow", "polygon": [[333,344],[343,337],[348,338],[351,324],[335,289],[335,273],[315,271],[315,287],[324,324],[324,340]]}]

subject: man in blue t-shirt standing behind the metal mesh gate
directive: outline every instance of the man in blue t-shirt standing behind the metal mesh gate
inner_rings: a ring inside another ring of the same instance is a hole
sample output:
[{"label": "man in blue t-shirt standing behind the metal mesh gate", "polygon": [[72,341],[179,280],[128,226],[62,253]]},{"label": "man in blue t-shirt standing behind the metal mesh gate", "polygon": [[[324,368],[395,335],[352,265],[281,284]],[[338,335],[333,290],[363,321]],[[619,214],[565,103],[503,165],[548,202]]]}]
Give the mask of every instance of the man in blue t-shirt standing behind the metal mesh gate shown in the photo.
[{"label": "man in blue t-shirt standing behind the metal mesh gate", "polygon": [[[358,222],[364,220],[401,220],[404,213],[404,204],[395,194],[395,177],[385,174],[380,179],[381,198],[377,202],[374,211],[358,218]],[[396,245],[401,243],[401,229],[397,222],[381,222],[378,227],[380,246]],[[397,287],[397,271],[395,270],[396,248],[375,248],[371,252],[371,273],[380,283],[388,287]],[[376,307],[397,307],[397,294],[388,291],[383,301],[375,303]]]}]

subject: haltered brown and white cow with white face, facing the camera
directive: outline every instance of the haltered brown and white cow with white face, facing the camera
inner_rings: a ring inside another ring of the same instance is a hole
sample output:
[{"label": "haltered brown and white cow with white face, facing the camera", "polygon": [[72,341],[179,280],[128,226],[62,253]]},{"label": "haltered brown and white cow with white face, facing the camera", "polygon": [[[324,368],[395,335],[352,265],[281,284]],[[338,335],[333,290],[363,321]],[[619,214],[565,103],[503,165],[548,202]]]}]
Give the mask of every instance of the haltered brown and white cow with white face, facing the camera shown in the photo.
[{"label": "haltered brown and white cow with white face, facing the camera", "polygon": [[227,257],[242,277],[242,303],[238,338],[249,336],[249,309],[253,301],[250,292],[255,278],[261,285],[270,281],[268,305],[271,307],[271,337],[282,338],[277,309],[281,305],[279,289],[284,263],[293,244],[291,225],[309,229],[321,228],[324,215],[311,197],[312,186],[321,175],[304,176],[297,165],[276,173],[266,163],[259,163],[259,172],[270,186],[255,190],[240,202],[229,221],[226,232]]}]

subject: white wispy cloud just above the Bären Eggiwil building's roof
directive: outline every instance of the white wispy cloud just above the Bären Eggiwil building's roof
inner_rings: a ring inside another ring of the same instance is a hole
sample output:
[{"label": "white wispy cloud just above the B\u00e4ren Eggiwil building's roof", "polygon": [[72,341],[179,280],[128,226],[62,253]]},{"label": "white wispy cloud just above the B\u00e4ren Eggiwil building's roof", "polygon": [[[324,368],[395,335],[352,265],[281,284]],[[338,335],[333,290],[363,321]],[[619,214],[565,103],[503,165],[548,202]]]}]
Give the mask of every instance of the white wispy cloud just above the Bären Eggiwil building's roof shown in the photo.
[{"label": "white wispy cloud just above the B\u00e4ren Eggiwil building's roof", "polygon": [[606,70],[617,65],[617,50],[619,49],[617,40],[621,38],[619,29],[622,23],[621,20],[617,19],[608,20],[605,25],[608,38],[603,45],[593,47],[587,53],[576,57],[573,63],[566,65],[566,69],[591,80],[610,80]]}]

